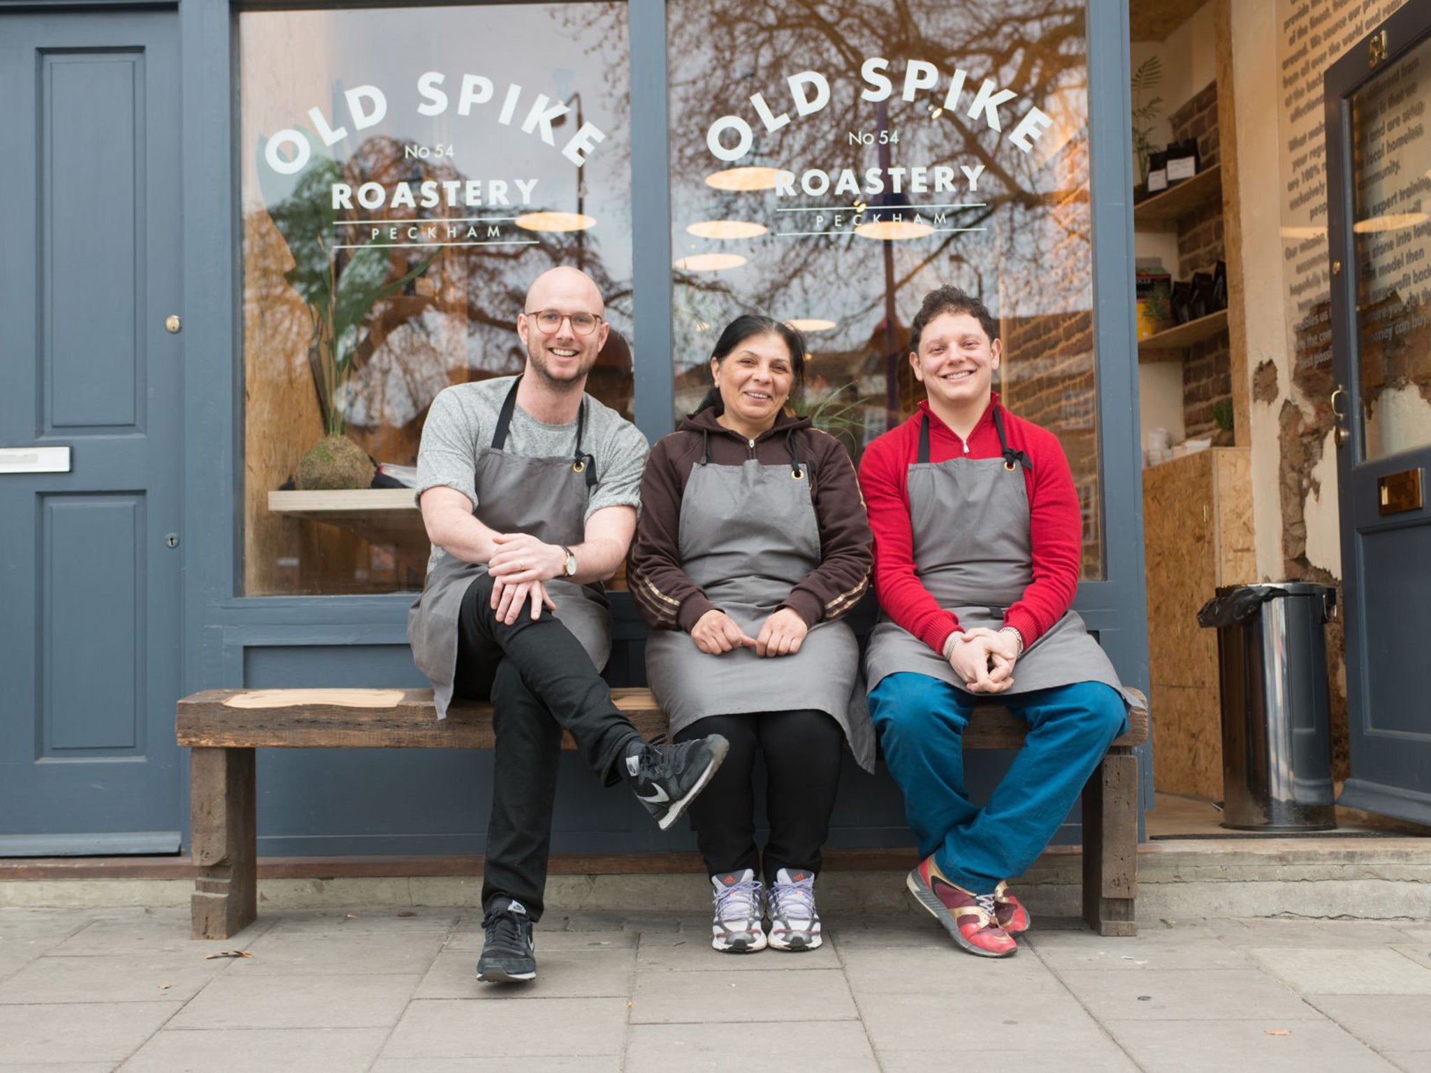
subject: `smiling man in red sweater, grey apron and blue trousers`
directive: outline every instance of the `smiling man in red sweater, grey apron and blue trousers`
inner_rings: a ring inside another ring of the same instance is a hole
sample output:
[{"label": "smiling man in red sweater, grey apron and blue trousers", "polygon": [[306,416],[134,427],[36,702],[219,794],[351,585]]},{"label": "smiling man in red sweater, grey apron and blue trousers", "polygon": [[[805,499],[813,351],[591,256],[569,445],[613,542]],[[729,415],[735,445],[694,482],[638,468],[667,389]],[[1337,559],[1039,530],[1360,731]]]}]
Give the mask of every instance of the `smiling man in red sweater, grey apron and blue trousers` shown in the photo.
[{"label": "smiling man in red sweater, grey apron and blue trousers", "polygon": [[[957,288],[933,290],[910,348],[929,399],[860,464],[884,612],[866,657],[870,715],[919,840],[910,891],[960,947],[1003,957],[1029,927],[1007,880],[1047,846],[1126,707],[1069,609],[1082,542],[1073,475],[1053,433],[999,403],[989,310]],[[1029,722],[982,808],[963,771],[979,694],[1000,694]]]}]

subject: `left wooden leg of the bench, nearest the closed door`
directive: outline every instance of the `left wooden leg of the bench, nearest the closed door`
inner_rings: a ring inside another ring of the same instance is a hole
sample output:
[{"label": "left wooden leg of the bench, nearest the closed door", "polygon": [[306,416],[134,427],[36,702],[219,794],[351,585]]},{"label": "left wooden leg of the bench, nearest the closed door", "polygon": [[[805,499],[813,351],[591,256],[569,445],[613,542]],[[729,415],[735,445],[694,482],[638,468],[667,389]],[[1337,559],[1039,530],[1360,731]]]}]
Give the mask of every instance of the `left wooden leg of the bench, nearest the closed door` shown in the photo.
[{"label": "left wooden leg of the bench, nearest the closed door", "polygon": [[252,748],[195,748],[189,758],[192,939],[228,939],[258,917],[258,823]]}]

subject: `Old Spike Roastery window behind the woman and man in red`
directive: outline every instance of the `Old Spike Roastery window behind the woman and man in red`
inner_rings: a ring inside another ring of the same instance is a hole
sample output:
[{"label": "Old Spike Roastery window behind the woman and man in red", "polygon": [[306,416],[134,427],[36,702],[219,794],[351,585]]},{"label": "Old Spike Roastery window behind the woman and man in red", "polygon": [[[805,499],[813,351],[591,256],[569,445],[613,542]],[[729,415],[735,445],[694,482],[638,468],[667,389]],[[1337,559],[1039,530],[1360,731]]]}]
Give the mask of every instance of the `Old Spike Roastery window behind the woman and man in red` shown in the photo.
[{"label": "Old Spike Roastery window behind the woman and man in red", "polygon": [[677,413],[761,310],[806,330],[801,408],[859,456],[957,285],[1000,323],[1005,403],[1063,442],[1100,578],[1083,6],[670,0],[667,33]]}]

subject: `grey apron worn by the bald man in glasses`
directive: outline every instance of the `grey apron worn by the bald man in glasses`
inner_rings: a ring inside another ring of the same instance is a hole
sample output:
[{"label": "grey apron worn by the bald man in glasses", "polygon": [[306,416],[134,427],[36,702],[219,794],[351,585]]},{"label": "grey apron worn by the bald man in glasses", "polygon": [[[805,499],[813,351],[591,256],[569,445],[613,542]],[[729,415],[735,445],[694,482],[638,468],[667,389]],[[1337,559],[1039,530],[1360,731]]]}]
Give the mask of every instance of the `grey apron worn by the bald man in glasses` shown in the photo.
[{"label": "grey apron worn by the bald man in glasses", "polygon": [[[525,458],[502,448],[517,408],[518,376],[502,401],[492,445],[477,456],[477,519],[497,532],[525,532],[547,544],[581,544],[587,532],[590,489],[597,465],[581,452],[587,401],[577,418],[577,449],[571,458]],[[422,594],[408,611],[412,660],[432,682],[438,718],[446,718],[456,675],[458,614],[462,597],[487,564],[464,562],[442,548],[432,548]],[[557,618],[587,650],[591,662],[605,667],[611,655],[611,609],[601,585],[578,585],[552,578],[547,594]],[[524,612],[525,614],[525,612]]]}]

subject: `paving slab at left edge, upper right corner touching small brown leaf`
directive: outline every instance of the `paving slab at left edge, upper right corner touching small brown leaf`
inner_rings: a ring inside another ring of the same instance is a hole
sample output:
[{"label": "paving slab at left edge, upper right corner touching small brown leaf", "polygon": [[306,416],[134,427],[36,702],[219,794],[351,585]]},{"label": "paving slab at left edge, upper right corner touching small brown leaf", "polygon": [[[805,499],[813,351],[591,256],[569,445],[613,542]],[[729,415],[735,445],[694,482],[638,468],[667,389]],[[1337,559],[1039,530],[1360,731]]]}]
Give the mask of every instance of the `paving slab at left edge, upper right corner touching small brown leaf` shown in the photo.
[{"label": "paving slab at left edge, upper right corner touching small brown leaf", "polygon": [[202,954],[167,951],[37,957],[0,981],[0,1004],[189,1001],[223,969]]}]

